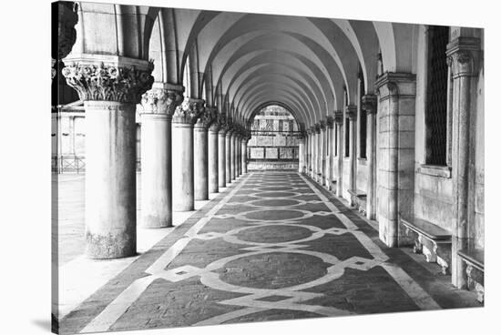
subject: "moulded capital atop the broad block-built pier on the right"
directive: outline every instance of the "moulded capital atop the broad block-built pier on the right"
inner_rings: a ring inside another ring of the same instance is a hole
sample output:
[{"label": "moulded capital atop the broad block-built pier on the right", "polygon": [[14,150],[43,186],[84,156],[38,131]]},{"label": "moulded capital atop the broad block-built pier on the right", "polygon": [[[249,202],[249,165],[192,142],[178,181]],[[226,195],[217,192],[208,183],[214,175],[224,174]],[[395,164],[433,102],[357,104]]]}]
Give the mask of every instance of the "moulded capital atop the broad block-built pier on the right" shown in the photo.
[{"label": "moulded capital atop the broad block-built pier on the right", "polygon": [[376,80],[374,87],[380,101],[389,96],[415,96],[415,75],[385,72]]}]

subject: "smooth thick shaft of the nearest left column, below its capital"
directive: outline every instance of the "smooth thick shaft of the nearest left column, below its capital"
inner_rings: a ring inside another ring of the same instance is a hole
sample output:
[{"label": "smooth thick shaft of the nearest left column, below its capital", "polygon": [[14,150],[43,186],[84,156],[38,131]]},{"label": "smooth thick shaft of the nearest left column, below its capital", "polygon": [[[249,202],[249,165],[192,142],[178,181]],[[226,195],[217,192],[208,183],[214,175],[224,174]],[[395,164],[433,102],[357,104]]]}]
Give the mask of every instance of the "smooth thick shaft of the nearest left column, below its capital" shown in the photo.
[{"label": "smooth thick shaft of the nearest left column, below its capital", "polygon": [[85,101],[86,254],[136,254],[136,105]]}]

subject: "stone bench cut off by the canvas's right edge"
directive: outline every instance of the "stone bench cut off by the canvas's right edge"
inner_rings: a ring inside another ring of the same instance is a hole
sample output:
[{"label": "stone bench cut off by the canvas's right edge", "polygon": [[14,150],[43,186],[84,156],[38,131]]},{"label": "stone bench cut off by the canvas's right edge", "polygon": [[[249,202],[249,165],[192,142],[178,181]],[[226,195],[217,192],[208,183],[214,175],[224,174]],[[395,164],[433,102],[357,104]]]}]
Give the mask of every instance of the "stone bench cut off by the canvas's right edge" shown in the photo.
[{"label": "stone bench cut off by the canvas's right edge", "polygon": [[462,249],[457,256],[466,263],[467,287],[476,292],[476,299],[484,303],[484,250]]}]

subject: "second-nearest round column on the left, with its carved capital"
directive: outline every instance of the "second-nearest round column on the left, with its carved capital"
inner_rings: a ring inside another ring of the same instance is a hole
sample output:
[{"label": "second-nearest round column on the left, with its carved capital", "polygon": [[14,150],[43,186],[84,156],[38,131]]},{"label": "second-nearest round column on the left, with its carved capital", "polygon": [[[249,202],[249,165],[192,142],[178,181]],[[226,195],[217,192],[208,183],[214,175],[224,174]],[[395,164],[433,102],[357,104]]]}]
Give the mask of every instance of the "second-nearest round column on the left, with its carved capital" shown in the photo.
[{"label": "second-nearest round column on the left, with its carved capital", "polygon": [[171,120],[182,86],[156,83],[141,101],[141,226],[172,227]]}]

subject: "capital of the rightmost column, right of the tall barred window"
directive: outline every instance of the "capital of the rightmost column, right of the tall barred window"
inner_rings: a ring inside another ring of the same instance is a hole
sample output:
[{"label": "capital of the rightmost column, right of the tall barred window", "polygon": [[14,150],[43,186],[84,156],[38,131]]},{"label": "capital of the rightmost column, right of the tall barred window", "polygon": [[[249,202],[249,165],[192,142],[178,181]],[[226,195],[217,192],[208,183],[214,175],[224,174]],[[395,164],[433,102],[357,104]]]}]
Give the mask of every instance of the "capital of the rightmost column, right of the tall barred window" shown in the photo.
[{"label": "capital of the rightmost column, right of the tall barred window", "polygon": [[459,36],[447,45],[447,65],[452,76],[476,76],[480,68],[480,38]]}]

